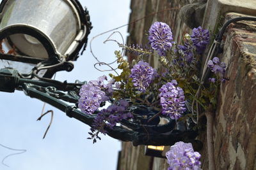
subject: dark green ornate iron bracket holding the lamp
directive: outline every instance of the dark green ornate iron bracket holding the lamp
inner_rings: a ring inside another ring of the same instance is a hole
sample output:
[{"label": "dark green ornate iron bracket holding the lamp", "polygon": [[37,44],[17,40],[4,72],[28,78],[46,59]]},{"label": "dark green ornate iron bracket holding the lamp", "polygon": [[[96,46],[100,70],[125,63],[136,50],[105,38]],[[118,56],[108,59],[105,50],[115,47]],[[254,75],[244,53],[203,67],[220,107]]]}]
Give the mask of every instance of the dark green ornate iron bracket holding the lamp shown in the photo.
[{"label": "dark green ornate iron bracket holding the lamp", "polygon": [[[23,90],[27,96],[51,104],[66,113],[68,117],[76,118],[91,127],[95,114],[84,114],[76,106],[79,100],[79,89],[83,84],[84,82],[81,81],[67,83],[65,81],[21,78],[15,69],[0,69],[0,91],[14,92],[15,90]],[[199,150],[202,147],[202,143],[195,140],[196,131],[175,130],[174,120],[166,125],[138,124],[128,120],[123,120],[120,124],[121,126],[115,126],[113,129],[106,127],[107,134],[121,141],[132,141],[134,146],[173,145],[177,141],[184,141],[191,142],[195,150]]]}]

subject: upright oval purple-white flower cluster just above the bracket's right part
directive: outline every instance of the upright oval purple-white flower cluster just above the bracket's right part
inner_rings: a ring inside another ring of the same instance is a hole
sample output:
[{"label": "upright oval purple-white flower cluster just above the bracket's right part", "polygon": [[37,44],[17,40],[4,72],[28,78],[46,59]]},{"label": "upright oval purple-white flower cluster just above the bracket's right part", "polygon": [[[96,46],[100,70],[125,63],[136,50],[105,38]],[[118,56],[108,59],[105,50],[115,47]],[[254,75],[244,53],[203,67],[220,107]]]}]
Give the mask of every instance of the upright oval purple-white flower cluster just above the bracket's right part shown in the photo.
[{"label": "upright oval purple-white flower cluster just above the bracket's right part", "polygon": [[177,85],[176,80],[166,83],[159,89],[160,104],[163,115],[177,120],[186,111],[184,92]]}]

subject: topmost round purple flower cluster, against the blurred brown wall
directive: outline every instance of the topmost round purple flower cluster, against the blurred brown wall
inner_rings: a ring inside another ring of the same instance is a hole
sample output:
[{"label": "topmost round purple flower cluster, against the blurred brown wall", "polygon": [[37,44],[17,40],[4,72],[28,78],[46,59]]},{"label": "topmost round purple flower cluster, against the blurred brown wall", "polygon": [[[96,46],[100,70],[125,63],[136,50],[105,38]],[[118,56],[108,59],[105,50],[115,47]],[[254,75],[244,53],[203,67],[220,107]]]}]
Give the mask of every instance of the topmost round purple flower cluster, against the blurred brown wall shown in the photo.
[{"label": "topmost round purple flower cluster, against the blurred brown wall", "polygon": [[155,22],[148,31],[150,46],[157,51],[158,55],[165,56],[166,51],[172,47],[172,31],[163,22]]}]

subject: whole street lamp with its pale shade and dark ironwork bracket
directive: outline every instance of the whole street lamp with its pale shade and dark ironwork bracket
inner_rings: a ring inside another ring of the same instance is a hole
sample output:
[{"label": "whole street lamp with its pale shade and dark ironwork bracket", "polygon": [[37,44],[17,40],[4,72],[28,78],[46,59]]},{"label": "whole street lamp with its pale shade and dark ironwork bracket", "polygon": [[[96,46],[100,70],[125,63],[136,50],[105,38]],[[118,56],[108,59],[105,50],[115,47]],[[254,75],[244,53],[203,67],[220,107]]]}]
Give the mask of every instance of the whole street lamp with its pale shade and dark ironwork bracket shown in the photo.
[{"label": "whole street lamp with its pale shade and dark ironwork bracket", "polygon": [[[23,90],[27,96],[51,104],[68,117],[92,127],[97,114],[84,114],[77,109],[79,90],[85,82],[51,79],[56,71],[71,71],[71,61],[86,46],[92,29],[88,11],[77,0],[3,0],[0,12],[0,40],[3,48],[14,51],[0,54],[0,91]],[[5,61],[7,66],[1,65]],[[14,64],[15,67],[10,62],[21,64]],[[33,65],[24,71],[20,70],[22,64]],[[148,122],[154,113],[152,108],[141,106],[132,110],[138,112],[138,120],[122,120],[121,125],[104,127],[106,134],[132,141],[134,146],[170,146],[177,141],[195,141],[196,131],[173,130],[175,120],[164,125],[158,124],[158,120]]]}]

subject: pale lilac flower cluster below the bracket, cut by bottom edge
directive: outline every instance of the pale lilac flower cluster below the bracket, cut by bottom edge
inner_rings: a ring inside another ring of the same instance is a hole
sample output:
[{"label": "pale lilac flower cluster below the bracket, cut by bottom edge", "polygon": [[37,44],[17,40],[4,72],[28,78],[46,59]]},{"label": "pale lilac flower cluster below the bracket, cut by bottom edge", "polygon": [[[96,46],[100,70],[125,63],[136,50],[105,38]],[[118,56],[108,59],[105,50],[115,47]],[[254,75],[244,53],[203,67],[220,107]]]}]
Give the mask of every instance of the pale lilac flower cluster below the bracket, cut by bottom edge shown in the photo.
[{"label": "pale lilac flower cluster below the bracket, cut by bottom edge", "polygon": [[171,146],[170,150],[166,152],[168,159],[168,170],[199,170],[201,162],[199,161],[201,155],[194,152],[191,143],[184,143],[182,141]]}]

